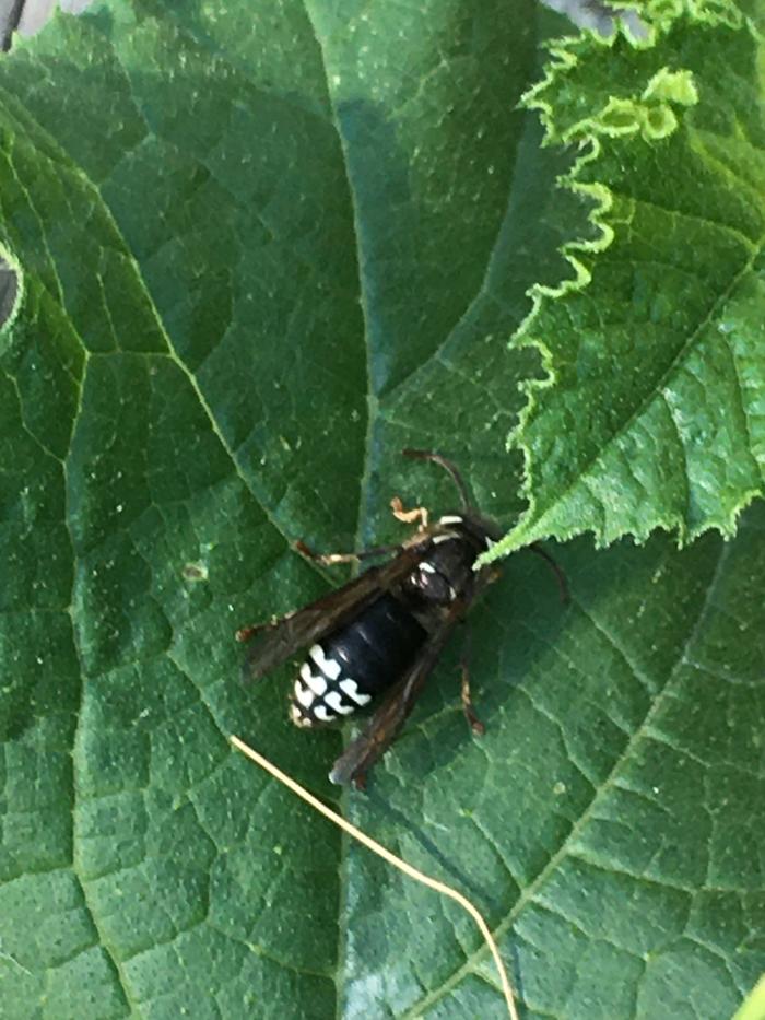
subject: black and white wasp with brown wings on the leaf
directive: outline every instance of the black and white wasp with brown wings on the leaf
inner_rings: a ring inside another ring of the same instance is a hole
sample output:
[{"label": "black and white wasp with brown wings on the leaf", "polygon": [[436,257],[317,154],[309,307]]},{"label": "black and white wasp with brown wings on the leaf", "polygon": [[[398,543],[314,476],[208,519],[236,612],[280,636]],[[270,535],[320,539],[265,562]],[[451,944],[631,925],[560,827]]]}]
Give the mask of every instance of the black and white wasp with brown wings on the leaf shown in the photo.
[{"label": "black and white wasp with brown wings on the leaf", "polygon": [[[455,625],[496,576],[494,567],[473,567],[501,531],[470,505],[455,466],[438,454],[403,453],[445,468],[459,490],[461,511],[428,525],[426,511],[404,512],[393,500],[399,519],[420,520],[416,534],[401,546],[318,555],[298,542],[301,552],[326,564],[390,559],[303,609],[237,633],[240,641],[249,641],[264,632],[247,655],[244,673],[248,680],[259,680],[308,646],[290,705],[297,726],[337,722],[386,694],[366,729],[334,763],[333,783],[364,785],[367,770],[385,753],[412,711]],[[462,704],[472,728],[482,731],[472,712],[466,669]]]}]

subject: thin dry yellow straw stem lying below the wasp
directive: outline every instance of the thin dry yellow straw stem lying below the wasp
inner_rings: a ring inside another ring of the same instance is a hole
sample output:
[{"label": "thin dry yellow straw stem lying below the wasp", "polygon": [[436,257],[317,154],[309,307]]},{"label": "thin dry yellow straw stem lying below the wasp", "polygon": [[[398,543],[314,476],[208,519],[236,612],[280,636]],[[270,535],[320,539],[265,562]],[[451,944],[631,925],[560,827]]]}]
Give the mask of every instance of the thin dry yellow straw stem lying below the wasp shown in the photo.
[{"label": "thin dry yellow straw stem lying below the wasp", "polygon": [[435,889],[436,892],[439,892],[444,896],[449,896],[450,900],[454,900],[456,903],[466,910],[470,916],[473,918],[475,924],[481,930],[481,935],[484,937],[489,949],[491,950],[492,955],[494,957],[494,962],[496,963],[497,971],[499,972],[499,981],[502,983],[502,990],[505,996],[505,1003],[507,1004],[507,1012],[510,1017],[510,1020],[518,1020],[518,1011],[516,1009],[515,999],[513,997],[513,988],[507,978],[507,972],[505,971],[505,964],[502,962],[502,957],[499,955],[499,950],[497,945],[492,937],[492,933],[489,930],[489,925],[481,916],[476,906],[474,906],[470,900],[462,895],[461,892],[458,892],[456,889],[452,889],[450,886],[445,886],[444,882],[439,882],[435,878],[431,878],[429,875],[423,875],[422,871],[417,871],[416,868],[413,868],[411,864],[407,864],[405,860],[402,860],[400,857],[397,857],[396,854],[392,854],[389,849],[378,843],[376,840],[373,840],[372,836],[368,836],[365,832],[362,832],[361,829],[356,829],[355,825],[352,825],[351,822],[346,822],[344,818],[340,814],[336,814],[331,808],[328,808],[326,804],[322,804],[318,798],[314,797],[313,794],[309,794],[308,790],[301,786],[299,783],[296,783],[295,779],[291,778],[286,773],[282,772],[281,769],[276,769],[267,758],[263,758],[262,754],[258,754],[249,745],[245,743],[244,740],[240,740],[238,737],[228,738],[234,747],[242,751],[243,754],[246,754],[247,758],[251,759],[257,765],[260,765],[261,769],[264,769],[274,779],[279,779],[280,783],[283,783],[287,789],[291,789],[293,794],[297,794],[306,804],[309,804],[311,808],[315,808],[325,818],[328,818],[331,822],[334,822],[343,832],[346,832],[350,836],[353,836],[354,840],[357,840],[367,849],[370,849],[373,853],[377,854],[378,857],[381,857],[384,860],[387,860],[388,864],[392,865],[395,868],[398,868],[399,871],[403,871],[404,875],[408,875],[410,878],[413,878],[417,882],[422,882],[423,886],[427,886],[428,889]]}]

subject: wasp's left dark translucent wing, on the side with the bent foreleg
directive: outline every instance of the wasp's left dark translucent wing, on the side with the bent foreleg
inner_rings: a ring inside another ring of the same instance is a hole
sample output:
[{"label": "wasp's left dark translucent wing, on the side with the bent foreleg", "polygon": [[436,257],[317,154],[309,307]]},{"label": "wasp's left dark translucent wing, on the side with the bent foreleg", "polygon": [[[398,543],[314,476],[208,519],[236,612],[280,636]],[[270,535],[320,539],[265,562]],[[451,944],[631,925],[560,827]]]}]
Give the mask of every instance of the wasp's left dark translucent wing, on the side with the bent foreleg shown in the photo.
[{"label": "wasp's left dark translucent wing, on the side with the bent foreleg", "polygon": [[369,567],[341,588],[266,624],[262,629],[264,634],[247,653],[244,679],[260,680],[298,648],[320,641],[325,634],[356,615],[382,590],[403,579],[429,544],[431,536],[427,535],[422,541],[403,548],[389,563]]}]

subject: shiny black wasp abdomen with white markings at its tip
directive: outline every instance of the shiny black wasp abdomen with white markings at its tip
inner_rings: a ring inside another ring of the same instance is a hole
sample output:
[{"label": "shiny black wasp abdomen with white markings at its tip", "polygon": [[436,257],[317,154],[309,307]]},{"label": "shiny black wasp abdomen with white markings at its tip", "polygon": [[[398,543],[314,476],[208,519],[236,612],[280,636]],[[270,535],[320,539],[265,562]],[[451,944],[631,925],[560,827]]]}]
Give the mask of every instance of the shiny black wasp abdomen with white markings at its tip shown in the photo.
[{"label": "shiny black wasp abdomen with white markings at its tip", "polygon": [[298,726],[350,715],[395,683],[427,636],[387,593],[314,645],[295,681],[291,716]]}]

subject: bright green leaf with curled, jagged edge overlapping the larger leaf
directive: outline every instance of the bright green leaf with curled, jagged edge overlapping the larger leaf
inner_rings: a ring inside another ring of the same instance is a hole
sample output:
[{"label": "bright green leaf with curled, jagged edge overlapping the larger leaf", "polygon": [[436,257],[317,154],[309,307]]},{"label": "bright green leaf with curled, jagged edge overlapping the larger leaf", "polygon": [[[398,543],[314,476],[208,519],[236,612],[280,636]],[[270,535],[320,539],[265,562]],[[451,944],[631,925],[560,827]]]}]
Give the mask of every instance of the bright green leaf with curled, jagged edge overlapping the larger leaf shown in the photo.
[{"label": "bright green leaf with curled, jagged edge overlapping the larger leaf", "polygon": [[601,236],[568,246],[574,283],[537,291],[523,342],[549,376],[514,434],[529,506],[489,559],[582,531],[731,535],[763,493],[762,37],[727,3],[651,15],[652,45],[555,47],[527,97],[548,141],[585,145],[568,186]]}]

